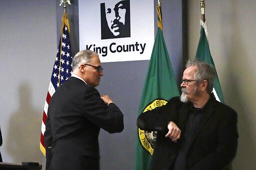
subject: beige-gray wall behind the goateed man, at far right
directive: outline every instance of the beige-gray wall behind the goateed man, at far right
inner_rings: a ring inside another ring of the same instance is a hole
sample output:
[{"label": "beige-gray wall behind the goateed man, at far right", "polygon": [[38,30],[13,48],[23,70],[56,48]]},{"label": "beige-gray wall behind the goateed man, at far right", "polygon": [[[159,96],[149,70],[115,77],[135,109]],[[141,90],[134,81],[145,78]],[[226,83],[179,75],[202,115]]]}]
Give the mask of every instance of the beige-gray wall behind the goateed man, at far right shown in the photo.
[{"label": "beige-gray wall behind the goateed man, at far right", "polygon": [[[188,56],[200,36],[200,0],[187,0]],[[256,170],[256,0],[205,0],[211,55],[225,104],[238,114],[233,170]]]}]

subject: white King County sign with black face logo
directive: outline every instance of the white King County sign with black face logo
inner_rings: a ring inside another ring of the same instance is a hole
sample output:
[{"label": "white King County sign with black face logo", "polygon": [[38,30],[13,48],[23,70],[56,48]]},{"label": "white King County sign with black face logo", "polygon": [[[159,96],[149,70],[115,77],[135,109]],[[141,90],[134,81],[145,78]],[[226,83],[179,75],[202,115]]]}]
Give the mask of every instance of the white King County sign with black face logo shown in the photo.
[{"label": "white King County sign with black face logo", "polygon": [[79,47],[101,62],[149,60],[154,43],[153,0],[79,0]]}]

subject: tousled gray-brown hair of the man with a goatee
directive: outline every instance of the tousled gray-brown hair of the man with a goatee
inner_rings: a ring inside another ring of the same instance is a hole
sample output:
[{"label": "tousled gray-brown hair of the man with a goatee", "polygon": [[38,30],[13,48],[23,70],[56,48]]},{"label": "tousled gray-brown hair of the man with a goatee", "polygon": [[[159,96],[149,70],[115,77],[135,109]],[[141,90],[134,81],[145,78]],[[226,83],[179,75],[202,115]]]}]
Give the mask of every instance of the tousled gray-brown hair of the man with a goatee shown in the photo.
[{"label": "tousled gray-brown hair of the man with a goatee", "polygon": [[206,92],[210,94],[216,77],[214,66],[198,59],[188,60],[185,68],[190,66],[196,66],[194,79],[198,80],[198,83],[201,83],[203,80],[208,82]]}]

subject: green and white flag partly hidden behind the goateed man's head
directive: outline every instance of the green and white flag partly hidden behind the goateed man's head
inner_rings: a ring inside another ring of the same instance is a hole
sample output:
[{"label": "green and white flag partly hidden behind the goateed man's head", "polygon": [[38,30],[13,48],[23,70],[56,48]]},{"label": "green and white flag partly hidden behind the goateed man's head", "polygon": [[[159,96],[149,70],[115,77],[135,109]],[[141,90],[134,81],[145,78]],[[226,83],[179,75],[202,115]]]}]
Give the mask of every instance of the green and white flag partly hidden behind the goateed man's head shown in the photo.
[{"label": "green and white flag partly hidden behind the goateed man's head", "polygon": [[[216,72],[214,62],[213,62],[212,57],[210,55],[210,49],[209,49],[208,40],[207,40],[207,31],[206,31],[207,30],[207,25],[202,20],[200,22],[201,22],[201,32],[200,32],[200,39],[199,39],[199,43],[198,43],[198,46],[197,46],[195,58],[197,58],[199,60],[202,60],[202,61],[205,61],[208,64],[213,65],[214,70]],[[217,76],[217,72],[216,72],[216,79],[214,81],[212,92],[213,92],[217,101],[224,103],[221,88],[220,88],[220,84],[219,84],[219,80],[218,80],[218,76]]]}]

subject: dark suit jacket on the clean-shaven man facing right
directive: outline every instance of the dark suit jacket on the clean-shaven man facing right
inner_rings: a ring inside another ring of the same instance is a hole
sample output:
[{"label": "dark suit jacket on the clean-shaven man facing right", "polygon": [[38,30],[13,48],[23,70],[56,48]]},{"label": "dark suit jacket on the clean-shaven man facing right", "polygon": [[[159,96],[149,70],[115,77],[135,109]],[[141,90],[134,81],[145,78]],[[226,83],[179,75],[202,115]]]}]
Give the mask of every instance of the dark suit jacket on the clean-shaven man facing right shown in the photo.
[{"label": "dark suit jacket on the clean-shaven man facing right", "polygon": [[121,111],[113,103],[107,106],[94,87],[69,77],[50,99],[44,144],[52,149],[50,156],[46,149],[46,164],[53,170],[83,170],[79,166],[82,159],[99,159],[100,128],[109,133],[121,132]]}]

